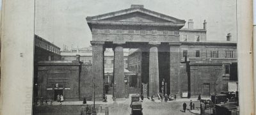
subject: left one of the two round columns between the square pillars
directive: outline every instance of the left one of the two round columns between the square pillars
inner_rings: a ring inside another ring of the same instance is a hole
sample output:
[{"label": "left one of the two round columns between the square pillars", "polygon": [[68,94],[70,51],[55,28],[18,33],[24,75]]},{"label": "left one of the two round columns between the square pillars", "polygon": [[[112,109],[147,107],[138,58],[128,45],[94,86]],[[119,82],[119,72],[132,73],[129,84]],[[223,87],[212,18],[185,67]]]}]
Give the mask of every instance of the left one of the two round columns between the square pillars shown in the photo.
[{"label": "left one of the two round columns between the square pillars", "polygon": [[117,44],[114,48],[114,82],[115,98],[124,98],[124,49],[122,44]]}]

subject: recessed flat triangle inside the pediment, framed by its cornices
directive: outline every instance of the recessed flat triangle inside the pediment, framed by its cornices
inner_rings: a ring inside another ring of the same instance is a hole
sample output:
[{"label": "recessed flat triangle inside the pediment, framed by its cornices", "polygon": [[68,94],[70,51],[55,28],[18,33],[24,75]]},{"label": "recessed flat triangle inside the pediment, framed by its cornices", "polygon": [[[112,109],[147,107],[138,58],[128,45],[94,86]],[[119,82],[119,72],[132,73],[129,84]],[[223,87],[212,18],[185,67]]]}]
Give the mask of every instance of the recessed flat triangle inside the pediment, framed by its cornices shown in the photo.
[{"label": "recessed flat triangle inside the pediment, framed by its cornices", "polygon": [[113,21],[125,21],[125,22],[171,22],[170,20],[164,20],[152,15],[141,13],[139,11],[133,13],[127,13],[124,15],[118,15],[115,17],[109,17],[102,20],[113,20]]}]

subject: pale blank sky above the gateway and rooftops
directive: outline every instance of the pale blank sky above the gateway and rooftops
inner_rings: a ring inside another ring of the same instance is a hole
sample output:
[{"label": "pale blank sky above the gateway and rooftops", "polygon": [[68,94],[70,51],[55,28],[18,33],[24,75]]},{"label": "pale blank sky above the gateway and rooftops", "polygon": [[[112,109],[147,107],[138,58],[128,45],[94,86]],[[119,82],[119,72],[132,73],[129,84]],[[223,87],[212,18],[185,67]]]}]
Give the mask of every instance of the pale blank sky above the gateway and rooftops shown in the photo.
[{"label": "pale blank sky above the gateway and rooftops", "polygon": [[[131,4],[177,19],[193,19],[194,28],[207,20],[207,40],[236,41],[236,0],[36,0],[35,33],[63,49],[88,47],[92,33],[86,17],[124,10]],[[188,24],[184,27],[188,27]]]}]

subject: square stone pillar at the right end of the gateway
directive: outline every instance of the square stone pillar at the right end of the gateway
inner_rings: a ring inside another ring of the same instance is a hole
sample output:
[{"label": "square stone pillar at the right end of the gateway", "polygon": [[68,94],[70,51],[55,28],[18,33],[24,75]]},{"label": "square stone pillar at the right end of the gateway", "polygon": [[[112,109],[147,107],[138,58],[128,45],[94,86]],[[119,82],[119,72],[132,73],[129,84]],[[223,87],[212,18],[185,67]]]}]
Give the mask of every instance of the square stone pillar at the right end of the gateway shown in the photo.
[{"label": "square stone pillar at the right end of the gateway", "polygon": [[179,96],[181,94],[180,81],[180,43],[169,43],[170,45],[170,94]]}]

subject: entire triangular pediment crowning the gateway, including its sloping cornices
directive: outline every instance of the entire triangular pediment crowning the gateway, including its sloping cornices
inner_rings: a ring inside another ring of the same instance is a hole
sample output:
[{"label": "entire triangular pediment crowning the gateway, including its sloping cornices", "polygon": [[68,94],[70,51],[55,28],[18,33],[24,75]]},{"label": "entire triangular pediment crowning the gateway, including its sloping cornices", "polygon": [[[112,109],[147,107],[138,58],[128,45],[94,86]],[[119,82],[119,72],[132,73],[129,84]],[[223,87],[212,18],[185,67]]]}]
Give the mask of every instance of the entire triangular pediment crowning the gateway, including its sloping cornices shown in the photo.
[{"label": "entire triangular pediment crowning the gateway, including its sloping cornices", "polygon": [[86,17],[90,21],[120,21],[120,22],[173,22],[185,23],[185,20],[180,20],[156,11],[151,11],[143,8],[143,5],[132,5],[131,8],[125,10],[114,11],[93,17]]}]

